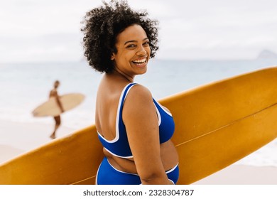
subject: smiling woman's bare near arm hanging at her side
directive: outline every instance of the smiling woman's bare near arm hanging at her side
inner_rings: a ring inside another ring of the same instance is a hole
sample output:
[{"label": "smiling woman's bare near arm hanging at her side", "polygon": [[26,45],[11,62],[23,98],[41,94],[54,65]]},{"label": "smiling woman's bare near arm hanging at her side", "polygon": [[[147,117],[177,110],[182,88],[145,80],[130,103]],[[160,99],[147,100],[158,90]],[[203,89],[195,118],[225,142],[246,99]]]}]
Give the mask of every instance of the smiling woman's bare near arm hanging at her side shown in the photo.
[{"label": "smiling woman's bare near arm hanging at her side", "polygon": [[158,116],[151,92],[146,87],[136,85],[129,91],[123,120],[141,182],[172,184],[161,161]]}]

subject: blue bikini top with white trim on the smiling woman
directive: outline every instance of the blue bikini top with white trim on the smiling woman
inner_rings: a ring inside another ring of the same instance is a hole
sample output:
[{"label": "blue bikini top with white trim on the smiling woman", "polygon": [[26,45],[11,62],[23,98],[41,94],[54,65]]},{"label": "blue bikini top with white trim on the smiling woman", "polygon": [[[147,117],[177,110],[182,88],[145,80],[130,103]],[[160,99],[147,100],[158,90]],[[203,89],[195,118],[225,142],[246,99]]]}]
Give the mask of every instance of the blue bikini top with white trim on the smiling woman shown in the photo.
[{"label": "blue bikini top with white trim on the smiling woman", "polygon": [[[116,114],[116,136],[113,140],[109,141],[105,139],[101,134],[98,132],[99,140],[101,141],[104,148],[109,151],[109,153],[113,154],[114,156],[118,156],[121,158],[132,158],[133,155],[131,154],[131,149],[129,146],[126,128],[124,122],[122,120],[122,109],[124,105],[124,100],[128,95],[129,90],[131,87],[136,85],[136,83],[131,83],[124,87],[124,90],[121,92],[121,96],[119,98],[119,106],[117,108]],[[174,133],[175,124],[173,121],[173,117],[165,110],[161,104],[156,102],[153,99],[153,102],[156,106],[157,115],[158,115],[158,126],[159,126],[159,137],[160,137],[160,144],[168,141]]]}]

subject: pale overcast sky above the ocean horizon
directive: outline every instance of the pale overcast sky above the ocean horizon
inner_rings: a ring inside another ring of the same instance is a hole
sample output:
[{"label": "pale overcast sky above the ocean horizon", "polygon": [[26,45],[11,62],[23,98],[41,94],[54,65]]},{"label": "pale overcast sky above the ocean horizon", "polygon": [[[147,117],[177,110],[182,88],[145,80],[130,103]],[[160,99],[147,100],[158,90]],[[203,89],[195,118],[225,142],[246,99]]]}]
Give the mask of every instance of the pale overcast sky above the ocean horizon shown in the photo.
[{"label": "pale overcast sky above the ocean horizon", "polygon": [[[276,0],[129,0],[160,21],[157,58],[277,53]],[[101,0],[0,0],[0,63],[82,60],[80,21]]]}]

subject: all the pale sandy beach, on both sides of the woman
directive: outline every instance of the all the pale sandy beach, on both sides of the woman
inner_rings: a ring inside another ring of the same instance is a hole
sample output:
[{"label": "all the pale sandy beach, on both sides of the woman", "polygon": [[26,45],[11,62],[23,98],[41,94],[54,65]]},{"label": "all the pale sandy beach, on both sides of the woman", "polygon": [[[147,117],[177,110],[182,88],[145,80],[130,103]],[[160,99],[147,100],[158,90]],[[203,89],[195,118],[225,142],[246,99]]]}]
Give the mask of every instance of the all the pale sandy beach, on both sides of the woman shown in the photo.
[{"label": "all the pale sandy beach, on both sides of the woman", "polygon": [[[0,121],[0,164],[50,142],[51,124]],[[77,129],[60,127],[57,137]],[[193,185],[277,185],[277,167],[233,164]]]}]

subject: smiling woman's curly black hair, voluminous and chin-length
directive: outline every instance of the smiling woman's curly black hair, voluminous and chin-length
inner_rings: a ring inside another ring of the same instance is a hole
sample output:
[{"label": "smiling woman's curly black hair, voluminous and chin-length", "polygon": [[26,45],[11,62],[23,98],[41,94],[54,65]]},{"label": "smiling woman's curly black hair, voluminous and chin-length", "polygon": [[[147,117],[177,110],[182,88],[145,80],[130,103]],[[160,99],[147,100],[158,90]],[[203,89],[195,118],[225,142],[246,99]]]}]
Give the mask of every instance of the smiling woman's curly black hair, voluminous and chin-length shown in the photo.
[{"label": "smiling woman's curly black hair, voluminous and chin-length", "polygon": [[146,31],[151,48],[150,58],[153,58],[158,50],[158,21],[146,18],[146,11],[133,11],[126,1],[112,0],[109,4],[103,1],[103,4],[88,11],[82,21],[85,23],[81,29],[84,33],[84,55],[89,65],[99,72],[112,72],[114,63],[111,56],[117,53],[116,36],[134,24]]}]

